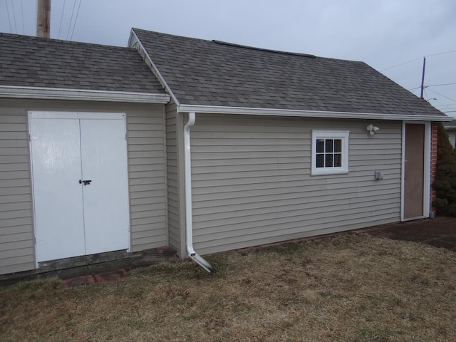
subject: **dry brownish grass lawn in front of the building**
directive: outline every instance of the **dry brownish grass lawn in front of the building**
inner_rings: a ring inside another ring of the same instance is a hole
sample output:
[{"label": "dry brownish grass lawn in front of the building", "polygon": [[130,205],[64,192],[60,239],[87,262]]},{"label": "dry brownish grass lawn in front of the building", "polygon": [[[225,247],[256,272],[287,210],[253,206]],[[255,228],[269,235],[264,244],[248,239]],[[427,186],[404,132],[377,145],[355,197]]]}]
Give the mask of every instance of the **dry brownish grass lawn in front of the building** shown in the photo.
[{"label": "dry brownish grass lawn in front of the building", "polygon": [[62,289],[0,289],[0,341],[456,341],[456,254],[340,234],[138,269]]}]

